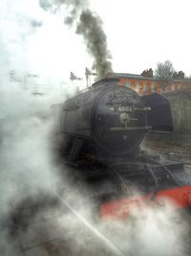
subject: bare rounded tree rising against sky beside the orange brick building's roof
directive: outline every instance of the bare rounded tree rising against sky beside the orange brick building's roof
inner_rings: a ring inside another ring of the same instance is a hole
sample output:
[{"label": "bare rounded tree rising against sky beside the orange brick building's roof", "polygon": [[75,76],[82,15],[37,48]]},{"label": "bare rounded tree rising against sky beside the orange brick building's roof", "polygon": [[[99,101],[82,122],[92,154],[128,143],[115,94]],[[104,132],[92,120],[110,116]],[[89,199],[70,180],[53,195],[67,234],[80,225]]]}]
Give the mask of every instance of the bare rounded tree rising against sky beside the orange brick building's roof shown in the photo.
[{"label": "bare rounded tree rising against sky beside the orange brick building's roof", "polygon": [[165,60],[164,62],[159,62],[155,70],[155,77],[159,79],[166,79],[170,81],[175,72],[173,64],[170,60]]}]

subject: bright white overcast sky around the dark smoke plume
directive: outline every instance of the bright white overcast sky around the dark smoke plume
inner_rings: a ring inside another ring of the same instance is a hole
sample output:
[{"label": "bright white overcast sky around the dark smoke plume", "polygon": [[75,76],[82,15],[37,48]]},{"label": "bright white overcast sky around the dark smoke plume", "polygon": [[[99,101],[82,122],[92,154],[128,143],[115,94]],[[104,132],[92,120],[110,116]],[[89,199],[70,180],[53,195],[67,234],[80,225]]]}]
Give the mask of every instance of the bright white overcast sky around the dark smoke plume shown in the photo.
[{"label": "bright white overcast sky around the dark smoke plume", "polygon": [[[115,72],[139,74],[170,59],[191,75],[190,0],[90,0],[103,21]],[[45,12],[38,0],[1,0],[0,73],[9,69],[68,80],[84,76],[93,58],[62,13]]]}]

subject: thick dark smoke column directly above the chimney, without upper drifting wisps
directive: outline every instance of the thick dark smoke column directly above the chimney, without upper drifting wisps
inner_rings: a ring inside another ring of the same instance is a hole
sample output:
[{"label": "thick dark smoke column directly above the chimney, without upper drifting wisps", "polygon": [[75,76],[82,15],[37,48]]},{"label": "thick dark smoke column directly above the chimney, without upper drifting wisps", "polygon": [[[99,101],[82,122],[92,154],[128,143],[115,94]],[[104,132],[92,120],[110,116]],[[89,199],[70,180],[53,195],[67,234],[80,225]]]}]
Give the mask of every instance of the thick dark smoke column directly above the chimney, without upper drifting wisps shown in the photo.
[{"label": "thick dark smoke column directly above the chimney, without upper drifting wisps", "polygon": [[94,69],[97,77],[103,78],[112,71],[110,52],[107,47],[107,36],[102,30],[100,17],[94,15],[90,10],[81,13],[77,24],[76,34],[83,35],[89,53],[95,58]]}]

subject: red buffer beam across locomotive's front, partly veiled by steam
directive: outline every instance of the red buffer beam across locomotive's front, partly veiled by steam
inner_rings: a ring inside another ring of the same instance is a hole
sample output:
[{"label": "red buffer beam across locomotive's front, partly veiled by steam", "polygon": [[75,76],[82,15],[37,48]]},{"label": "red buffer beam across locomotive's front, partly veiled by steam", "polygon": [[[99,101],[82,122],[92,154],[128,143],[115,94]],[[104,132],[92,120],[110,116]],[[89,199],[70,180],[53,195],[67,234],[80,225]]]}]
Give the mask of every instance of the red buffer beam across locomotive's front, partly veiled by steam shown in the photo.
[{"label": "red buffer beam across locomotive's front, partly veiled by steam", "polygon": [[[103,203],[100,207],[100,216],[102,219],[125,219],[131,214],[132,209],[144,207],[151,197],[152,193],[149,193]],[[176,209],[190,207],[191,185],[159,191],[153,201],[159,204],[162,198],[170,199]]]}]

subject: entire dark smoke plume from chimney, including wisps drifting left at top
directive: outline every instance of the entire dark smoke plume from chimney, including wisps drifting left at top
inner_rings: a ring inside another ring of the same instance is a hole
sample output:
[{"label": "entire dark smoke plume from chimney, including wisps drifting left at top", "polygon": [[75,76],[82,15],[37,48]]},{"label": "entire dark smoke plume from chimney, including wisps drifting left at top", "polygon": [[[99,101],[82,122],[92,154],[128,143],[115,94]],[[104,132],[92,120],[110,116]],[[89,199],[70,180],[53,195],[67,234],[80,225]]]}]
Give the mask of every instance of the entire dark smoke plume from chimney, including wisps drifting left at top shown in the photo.
[{"label": "entire dark smoke plume from chimney, including wisps drifting left at top", "polygon": [[87,50],[94,58],[93,69],[96,70],[97,79],[112,72],[112,56],[108,51],[107,36],[102,29],[102,20],[87,9],[88,0],[54,0],[52,6],[48,0],[39,0],[39,3],[45,11],[55,8],[55,6],[59,9],[64,5],[67,10],[64,23],[68,26],[73,26],[79,16],[75,33],[84,37]]}]

